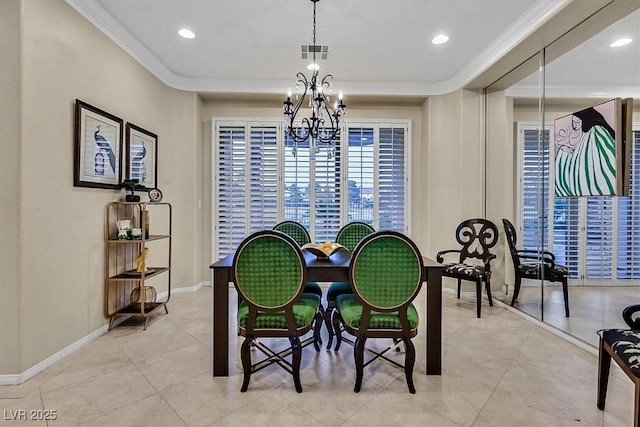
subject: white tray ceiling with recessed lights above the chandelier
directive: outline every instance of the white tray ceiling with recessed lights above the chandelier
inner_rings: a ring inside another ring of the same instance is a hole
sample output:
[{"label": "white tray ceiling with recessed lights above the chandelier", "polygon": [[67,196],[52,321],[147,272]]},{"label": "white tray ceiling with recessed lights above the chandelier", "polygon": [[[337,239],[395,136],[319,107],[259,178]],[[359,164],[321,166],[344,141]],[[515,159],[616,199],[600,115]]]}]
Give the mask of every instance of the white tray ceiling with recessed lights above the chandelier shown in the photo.
[{"label": "white tray ceiling with recessed lights above the chandelier", "polygon": [[[300,46],[313,40],[310,0],[67,3],[160,80],[178,89],[284,93],[310,62],[300,55]],[[568,3],[322,0],[317,3],[316,42],[329,46],[329,57],[320,61],[320,74],[333,74],[334,88],[346,94],[448,93],[477,77]],[[630,62],[636,74],[624,78],[640,86],[640,18],[634,15],[627,26],[635,31],[628,51],[635,53],[635,63],[633,58]],[[179,37],[182,27],[194,31],[196,38]],[[432,44],[439,33],[448,34],[449,42]],[[589,64],[592,68],[593,60]]]}]

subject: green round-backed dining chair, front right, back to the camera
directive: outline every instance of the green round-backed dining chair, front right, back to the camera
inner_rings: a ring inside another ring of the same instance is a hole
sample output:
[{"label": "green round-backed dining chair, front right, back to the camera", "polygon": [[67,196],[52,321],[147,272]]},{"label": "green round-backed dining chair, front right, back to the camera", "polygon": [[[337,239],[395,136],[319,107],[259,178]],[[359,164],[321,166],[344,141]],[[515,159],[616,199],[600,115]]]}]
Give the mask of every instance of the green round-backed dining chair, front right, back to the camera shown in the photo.
[{"label": "green round-backed dining chair, front right, back to the camera", "polygon": [[[423,261],[418,247],[407,236],[395,231],[379,231],[365,237],[351,258],[349,276],[352,294],[338,295],[334,328],[340,324],[355,337],[356,384],[360,391],[364,368],[383,358],[404,370],[411,393],[416,352],[411,339],[418,333],[418,311],[413,300],[423,282]],[[405,347],[404,364],[387,358],[385,353],[366,349],[369,338],[401,340]],[[365,350],[375,356],[364,362]]]}]

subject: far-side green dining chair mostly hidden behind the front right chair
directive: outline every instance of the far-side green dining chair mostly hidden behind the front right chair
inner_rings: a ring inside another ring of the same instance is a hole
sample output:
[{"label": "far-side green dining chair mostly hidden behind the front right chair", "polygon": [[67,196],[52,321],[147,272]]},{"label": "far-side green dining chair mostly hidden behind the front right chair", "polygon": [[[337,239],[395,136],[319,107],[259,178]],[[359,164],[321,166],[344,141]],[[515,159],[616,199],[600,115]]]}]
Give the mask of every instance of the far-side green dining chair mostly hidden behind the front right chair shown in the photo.
[{"label": "far-side green dining chair mostly hidden behind the front right chair", "polygon": [[[340,243],[345,248],[353,251],[364,237],[374,232],[374,228],[369,224],[359,221],[350,222],[338,231],[338,234],[336,235],[336,243]],[[353,293],[353,291],[351,290],[351,284],[349,282],[333,282],[327,289],[327,307],[324,311],[324,322],[327,327],[327,332],[329,333],[327,350],[331,348],[334,335],[337,336],[335,350],[340,348],[340,343],[342,342],[341,331],[333,330],[331,320],[331,316],[336,308],[336,298],[338,295],[351,293]]]}]

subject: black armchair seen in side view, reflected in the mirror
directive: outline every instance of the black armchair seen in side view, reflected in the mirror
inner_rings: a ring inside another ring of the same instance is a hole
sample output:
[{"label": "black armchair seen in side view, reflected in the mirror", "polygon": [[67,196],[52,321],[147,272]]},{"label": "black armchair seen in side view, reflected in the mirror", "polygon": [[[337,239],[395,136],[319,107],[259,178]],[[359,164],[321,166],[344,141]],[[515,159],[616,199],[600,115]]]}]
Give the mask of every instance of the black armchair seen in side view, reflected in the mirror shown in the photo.
[{"label": "black armchair seen in side view, reflected in the mirror", "polygon": [[569,289],[567,285],[569,269],[563,265],[556,264],[556,257],[548,251],[517,249],[518,236],[516,229],[506,218],[502,218],[504,232],[509,244],[509,252],[513,260],[513,272],[515,274],[515,284],[513,296],[511,297],[511,307],[515,304],[520,293],[522,279],[546,280],[549,282],[562,283],[562,293],[564,294],[564,314],[569,317]]}]

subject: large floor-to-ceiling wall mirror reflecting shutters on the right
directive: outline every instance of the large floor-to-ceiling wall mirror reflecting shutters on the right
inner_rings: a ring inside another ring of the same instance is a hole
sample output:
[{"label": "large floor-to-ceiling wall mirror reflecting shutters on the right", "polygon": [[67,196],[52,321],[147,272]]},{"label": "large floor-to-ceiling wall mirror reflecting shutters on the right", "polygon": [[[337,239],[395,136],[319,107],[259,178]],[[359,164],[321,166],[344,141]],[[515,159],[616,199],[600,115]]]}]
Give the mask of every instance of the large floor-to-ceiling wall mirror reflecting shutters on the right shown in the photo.
[{"label": "large floor-to-ceiling wall mirror reflecting shutters on the right", "polygon": [[[640,9],[607,19],[594,31],[591,17],[485,90],[487,215],[513,223],[520,249],[551,251],[569,271],[569,317],[560,282],[524,280],[513,306],[592,346],[598,329],[623,327],[622,309],[640,302]],[[588,36],[567,50],[575,31]],[[631,43],[610,46],[623,38]],[[633,98],[629,195],[557,196],[557,140],[582,143],[588,131],[559,133],[555,120],[615,98]],[[511,304],[508,248],[503,255],[496,297]]]}]

